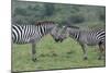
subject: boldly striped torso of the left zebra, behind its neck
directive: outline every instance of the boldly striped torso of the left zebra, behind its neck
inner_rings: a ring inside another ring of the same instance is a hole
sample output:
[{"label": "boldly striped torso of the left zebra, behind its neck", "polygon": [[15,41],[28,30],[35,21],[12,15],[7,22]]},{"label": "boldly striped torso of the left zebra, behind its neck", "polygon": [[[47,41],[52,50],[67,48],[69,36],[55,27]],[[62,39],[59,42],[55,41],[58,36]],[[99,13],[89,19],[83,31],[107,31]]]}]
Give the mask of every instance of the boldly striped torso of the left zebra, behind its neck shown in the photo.
[{"label": "boldly striped torso of the left zebra, behind its neck", "polygon": [[14,44],[29,44],[36,33],[37,29],[34,25],[12,25],[12,41]]}]

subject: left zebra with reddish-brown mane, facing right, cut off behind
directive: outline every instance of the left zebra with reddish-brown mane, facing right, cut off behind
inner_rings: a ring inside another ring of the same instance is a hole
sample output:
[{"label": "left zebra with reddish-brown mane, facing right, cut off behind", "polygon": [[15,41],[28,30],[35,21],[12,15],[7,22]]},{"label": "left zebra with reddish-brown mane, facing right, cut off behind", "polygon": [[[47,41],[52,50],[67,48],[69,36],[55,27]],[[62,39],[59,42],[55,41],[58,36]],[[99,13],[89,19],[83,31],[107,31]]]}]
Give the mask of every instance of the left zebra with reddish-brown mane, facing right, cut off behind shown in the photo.
[{"label": "left zebra with reddish-brown mane, facing right, cut off behind", "polygon": [[32,44],[32,61],[36,61],[35,46],[42,37],[51,34],[54,40],[57,42],[58,24],[50,21],[36,22],[35,25],[26,24],[12,24],[12,44]]}]

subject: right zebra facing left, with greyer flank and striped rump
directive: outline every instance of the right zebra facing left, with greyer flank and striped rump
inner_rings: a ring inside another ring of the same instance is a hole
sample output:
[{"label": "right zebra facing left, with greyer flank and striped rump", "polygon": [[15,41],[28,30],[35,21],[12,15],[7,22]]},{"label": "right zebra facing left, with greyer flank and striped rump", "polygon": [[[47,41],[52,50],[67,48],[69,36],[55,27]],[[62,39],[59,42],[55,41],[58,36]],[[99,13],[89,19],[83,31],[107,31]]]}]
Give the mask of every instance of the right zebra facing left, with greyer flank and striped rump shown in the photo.
[{"label": "right zebra facing left, with greyer flank and striped rump", "polygon": [[84,60],[87,60],[87,46],[97,46],[99,47],[99,57],[98,60],[102,59],[102,56],[106,51],[106,31],[103,28],[95,29],[80,29],[78,26],[64,26],[58,39],[62,41],[70,37],[76,39],[76,41],[81,46],[84,52]]}]

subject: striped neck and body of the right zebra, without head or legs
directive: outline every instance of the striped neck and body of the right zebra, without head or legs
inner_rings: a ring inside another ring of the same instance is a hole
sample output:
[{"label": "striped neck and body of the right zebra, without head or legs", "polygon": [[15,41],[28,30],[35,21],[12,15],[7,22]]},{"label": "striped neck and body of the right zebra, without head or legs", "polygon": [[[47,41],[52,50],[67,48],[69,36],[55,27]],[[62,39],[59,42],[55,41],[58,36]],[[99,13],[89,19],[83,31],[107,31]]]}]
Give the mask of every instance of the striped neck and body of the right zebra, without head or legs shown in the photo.
[{"label": "striped neck and body of the right zebra, without head or legs", "polygon": [[105,44],[106,32],[105,29],[70,29],[69,36],[79,42],[87,44],[88,46],[95,46],[99,42]]}]

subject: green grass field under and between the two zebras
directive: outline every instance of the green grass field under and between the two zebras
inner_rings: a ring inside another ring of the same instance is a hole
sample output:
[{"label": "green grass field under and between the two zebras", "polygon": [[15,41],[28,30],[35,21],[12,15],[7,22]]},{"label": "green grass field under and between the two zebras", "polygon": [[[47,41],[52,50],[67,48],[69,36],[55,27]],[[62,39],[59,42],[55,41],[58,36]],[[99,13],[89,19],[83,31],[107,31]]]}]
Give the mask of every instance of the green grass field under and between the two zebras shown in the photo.
[{"label": "green grass field under and between the two zebras", "polygon": [[31,45],[13,45],[12,71],[33,71],[51,69],[105,66],[105,60],[98,60],[97,47],[88,47],[88,60],[82,60],[80,46],[73,39],[55,42],[46,36],[36,44],[37,61],[31,60]]}]

